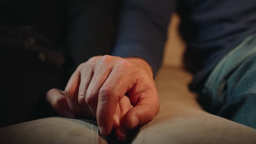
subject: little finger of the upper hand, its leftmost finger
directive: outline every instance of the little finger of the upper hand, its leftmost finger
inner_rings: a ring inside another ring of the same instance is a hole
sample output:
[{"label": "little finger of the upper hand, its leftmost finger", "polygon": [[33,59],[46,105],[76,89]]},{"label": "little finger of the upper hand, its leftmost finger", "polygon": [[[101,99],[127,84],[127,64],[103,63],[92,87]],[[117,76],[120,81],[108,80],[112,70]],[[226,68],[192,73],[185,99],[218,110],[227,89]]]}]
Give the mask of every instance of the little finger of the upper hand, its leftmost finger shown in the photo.
[{"label": "little finger of the upper hand, its leftmost finger", "polygon": [[80,85],[80,71],[83,64],[74,71],[65,88],[65,95],[69,108],[73,113],[82,113],[82,107],[78,103],[78,90]]}]

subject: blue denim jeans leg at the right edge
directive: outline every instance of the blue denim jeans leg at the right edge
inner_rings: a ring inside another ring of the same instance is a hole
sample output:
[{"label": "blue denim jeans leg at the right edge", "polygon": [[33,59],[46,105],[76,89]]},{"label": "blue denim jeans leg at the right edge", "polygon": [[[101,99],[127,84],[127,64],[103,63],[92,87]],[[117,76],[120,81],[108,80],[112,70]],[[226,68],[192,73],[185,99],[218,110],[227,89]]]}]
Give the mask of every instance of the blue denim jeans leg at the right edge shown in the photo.
[{"label": "blue denim jeans leg at the right edge", "polygon": [[256,128],[256,34],[217,64],[203,87],[200,103],[214,115]]}]

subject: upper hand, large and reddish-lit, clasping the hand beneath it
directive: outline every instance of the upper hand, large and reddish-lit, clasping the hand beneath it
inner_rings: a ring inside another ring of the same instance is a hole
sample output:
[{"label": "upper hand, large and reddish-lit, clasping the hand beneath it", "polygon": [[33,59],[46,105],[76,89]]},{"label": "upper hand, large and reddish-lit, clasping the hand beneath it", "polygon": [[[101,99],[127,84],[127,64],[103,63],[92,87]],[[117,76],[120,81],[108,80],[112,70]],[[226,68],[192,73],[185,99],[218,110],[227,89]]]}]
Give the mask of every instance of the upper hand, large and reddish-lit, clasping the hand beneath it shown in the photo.
[{"label": "upper hand, large and reddish-lit, clasping the hand beneath it", "polygon": [[[120,127],[133,129],[150,122],[159,111],[152,70],[140,58],[92,57],[79,65],[66,89],[71,113],[90,110],[102,135],[113,129],[114,113],[127,95],[131,109],[120,118]],[[87,112],[89,113],[89,112]]]}]

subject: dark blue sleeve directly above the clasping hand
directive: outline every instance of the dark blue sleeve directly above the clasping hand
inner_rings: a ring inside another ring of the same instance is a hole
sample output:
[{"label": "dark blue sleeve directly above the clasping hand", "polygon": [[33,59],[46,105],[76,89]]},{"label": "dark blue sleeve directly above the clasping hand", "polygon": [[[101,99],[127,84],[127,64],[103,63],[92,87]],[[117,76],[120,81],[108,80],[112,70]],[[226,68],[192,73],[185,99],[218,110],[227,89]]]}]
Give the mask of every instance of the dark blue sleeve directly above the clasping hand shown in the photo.
[{"label": "dark blue sleeve directly above the clasping hand", "polygon": [[112,55],[142,58],[149,63],[155,75],[162,62],[167,27],[175,2],[125,0]]}]

